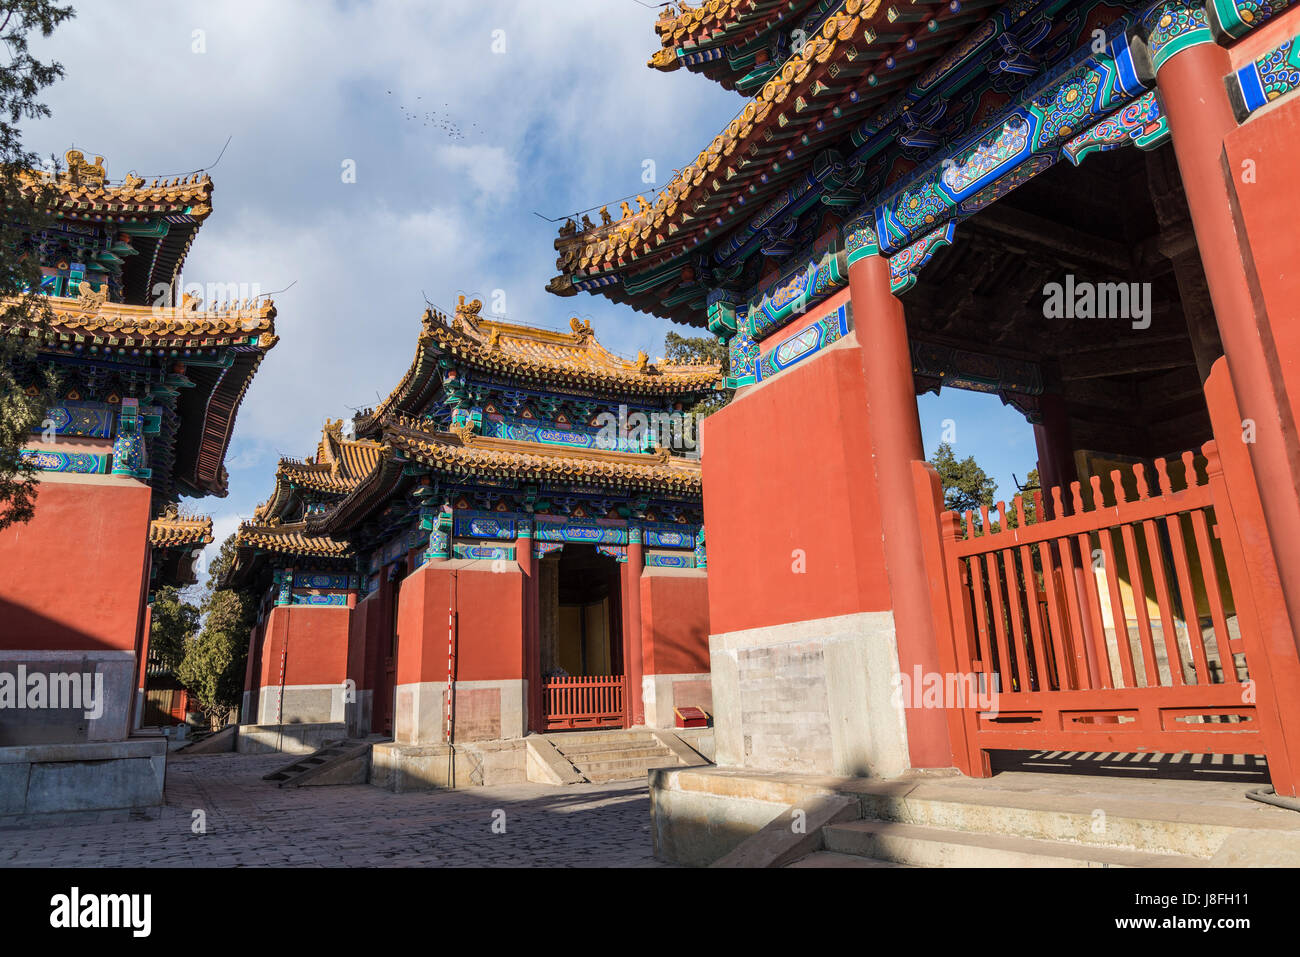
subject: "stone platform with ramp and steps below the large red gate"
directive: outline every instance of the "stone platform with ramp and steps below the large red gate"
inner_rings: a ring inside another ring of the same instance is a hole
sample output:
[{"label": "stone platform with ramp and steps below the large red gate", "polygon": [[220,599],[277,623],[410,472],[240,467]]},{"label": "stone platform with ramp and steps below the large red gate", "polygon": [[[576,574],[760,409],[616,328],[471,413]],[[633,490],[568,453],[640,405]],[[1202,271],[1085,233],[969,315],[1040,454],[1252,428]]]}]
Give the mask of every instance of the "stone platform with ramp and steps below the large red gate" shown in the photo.
[{"label": "stone platform with ramp and steps below the large red gate", "polygon": [[[1256,784],[1008,772],[893,780],[663,770],[651,776],[655,853],[758,867],[1294,867],[1300,814]],[[818,802],[852,811],[792,820]],[[857,858],[859,865],[845,858]]]}]

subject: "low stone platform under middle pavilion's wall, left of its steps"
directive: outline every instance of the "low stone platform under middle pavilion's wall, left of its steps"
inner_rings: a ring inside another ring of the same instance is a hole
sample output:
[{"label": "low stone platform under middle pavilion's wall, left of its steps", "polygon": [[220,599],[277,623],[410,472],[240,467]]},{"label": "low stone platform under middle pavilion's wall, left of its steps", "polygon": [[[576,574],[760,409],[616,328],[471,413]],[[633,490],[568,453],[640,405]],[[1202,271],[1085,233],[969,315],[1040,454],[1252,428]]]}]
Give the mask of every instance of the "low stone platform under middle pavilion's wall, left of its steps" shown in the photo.
[{"label": "low stone platform under middle pavilion's wall, left of its steps", "polygon": [[387,791],[432,791],[528,780],[523,739],[445,744],[377,744],[370,749],[370,784]]}]

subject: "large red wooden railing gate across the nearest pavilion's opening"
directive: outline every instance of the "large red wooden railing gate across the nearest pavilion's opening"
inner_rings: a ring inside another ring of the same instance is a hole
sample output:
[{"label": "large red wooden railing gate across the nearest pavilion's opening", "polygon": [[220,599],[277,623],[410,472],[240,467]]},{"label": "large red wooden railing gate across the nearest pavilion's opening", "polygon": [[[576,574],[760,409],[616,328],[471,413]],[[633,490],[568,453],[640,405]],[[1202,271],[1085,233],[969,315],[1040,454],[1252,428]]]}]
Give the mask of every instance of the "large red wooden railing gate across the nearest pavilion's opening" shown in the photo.
[{"label": "large red wooden railing gate across the nearest pavilion's opening", "polygon": [[1032,510],[942,514],[954,663],[998,689],[988,710],[962,702],[971,772],[989,749],[1264,753],[1245,564],[1202,451],[1157,459],[1158,489],[1140,464],[1112,472],[1109,506],[1093,476],[1091,507],[1074,482]]}]

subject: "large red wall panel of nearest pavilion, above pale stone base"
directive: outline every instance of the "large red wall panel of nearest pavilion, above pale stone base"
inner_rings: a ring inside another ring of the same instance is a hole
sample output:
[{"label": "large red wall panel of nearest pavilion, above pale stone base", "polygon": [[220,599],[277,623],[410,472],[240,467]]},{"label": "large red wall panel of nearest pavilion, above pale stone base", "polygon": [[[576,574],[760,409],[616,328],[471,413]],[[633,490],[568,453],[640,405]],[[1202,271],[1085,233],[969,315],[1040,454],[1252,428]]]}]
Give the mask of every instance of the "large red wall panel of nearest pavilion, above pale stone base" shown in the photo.
[{"label": "large red wall panel of nearest pavilion, above pale stone base", "polygon": [[715,635],[889,607],[857,343],[753,386],[702,443]]}]

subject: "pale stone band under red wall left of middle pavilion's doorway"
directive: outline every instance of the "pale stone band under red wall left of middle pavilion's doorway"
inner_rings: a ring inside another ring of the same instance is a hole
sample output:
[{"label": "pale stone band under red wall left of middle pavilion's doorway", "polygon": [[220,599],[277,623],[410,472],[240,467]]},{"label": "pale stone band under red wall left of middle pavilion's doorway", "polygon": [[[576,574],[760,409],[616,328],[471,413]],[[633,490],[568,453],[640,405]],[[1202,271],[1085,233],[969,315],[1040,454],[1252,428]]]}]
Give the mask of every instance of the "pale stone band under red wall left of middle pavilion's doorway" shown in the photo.
[{"label": "pale stone band under red wall left of middle pavilion's doorway", "polygon": [[[447,733],[446,681],[399,684],[394,740],[404,745],[441,744]],[[528,683],[456,681],[455,740],[498,741],[526,733]]]}]

